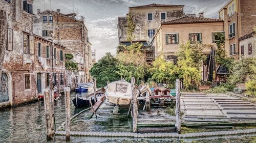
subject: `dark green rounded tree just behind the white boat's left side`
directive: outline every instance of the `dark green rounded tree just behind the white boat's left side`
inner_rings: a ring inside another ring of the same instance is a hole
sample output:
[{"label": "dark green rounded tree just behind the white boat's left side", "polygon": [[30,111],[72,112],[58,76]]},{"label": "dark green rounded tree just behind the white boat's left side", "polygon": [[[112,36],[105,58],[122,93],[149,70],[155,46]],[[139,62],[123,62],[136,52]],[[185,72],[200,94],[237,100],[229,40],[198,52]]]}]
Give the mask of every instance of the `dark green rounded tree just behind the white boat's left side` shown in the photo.
[{"label": "dark green rounded tree just behind the white boat's left side", "polygon": [[106,83],[120,79],[118,72],[118,60],[111,53],[106,53],[98,63],[95,63],[90,70],[93,78],[96,78],[97,88],[104,87]]}]

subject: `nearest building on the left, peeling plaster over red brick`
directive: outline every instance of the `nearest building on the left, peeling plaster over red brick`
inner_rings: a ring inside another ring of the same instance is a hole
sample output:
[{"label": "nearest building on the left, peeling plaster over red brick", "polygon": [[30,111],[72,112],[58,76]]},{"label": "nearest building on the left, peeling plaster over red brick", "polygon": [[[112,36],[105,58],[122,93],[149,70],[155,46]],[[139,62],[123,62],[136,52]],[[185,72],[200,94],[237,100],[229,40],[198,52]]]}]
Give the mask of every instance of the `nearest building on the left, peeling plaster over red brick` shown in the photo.
[{"label": "nearest building on the left, peeling plaster over red brick", "polygon": [[[7,46],[0,83],[0,106],[35,100],[33,1],[0,1],[0,17],[7,21]],[[4,19],[5,18],[5,19]]]}]

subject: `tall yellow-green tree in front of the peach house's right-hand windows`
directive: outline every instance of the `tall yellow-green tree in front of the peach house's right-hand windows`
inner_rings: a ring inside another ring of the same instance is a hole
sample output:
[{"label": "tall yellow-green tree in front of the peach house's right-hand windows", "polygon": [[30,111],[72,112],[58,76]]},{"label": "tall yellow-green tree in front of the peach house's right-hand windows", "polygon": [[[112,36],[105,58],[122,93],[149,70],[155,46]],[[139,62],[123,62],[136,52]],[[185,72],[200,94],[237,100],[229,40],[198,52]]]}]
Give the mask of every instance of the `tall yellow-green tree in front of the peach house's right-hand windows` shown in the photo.
[{"label": "tall yellow-green tree in front of the peach house's right-hand windows", "polygon": [[201,65],[206,59],[203,54],[203,48],[209,47],[203,44],[186,44],[180,45],[180,51],[176,54],[178,57],[178,77],[182,79],[184,88],[193,89],[201,81]]}]

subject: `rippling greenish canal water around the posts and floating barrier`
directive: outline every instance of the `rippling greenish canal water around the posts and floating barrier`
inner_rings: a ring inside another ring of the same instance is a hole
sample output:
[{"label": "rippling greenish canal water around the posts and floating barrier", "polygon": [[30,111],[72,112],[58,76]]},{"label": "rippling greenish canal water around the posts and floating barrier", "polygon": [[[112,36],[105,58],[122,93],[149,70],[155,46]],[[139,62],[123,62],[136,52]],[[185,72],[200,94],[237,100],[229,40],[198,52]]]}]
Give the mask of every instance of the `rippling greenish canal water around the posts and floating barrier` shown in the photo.
[{"label": "rippling greenish canal water around the posts and floating barrier", "polygon": [[[71,99],[75,93],[71,93]],[[71,101],[72,102],[72,101]],[[24,104],[22,106],[0,110],[0,142],[46,142],[46,120],[44,102]],[[71,116],[84,108],[77,109],[71,103]],[[65,100],[62,96],[54,102],[56,127],[65,121]],[[80,119],[80,122],[82,119]],[[118,125],[118,126],[117,126]],[[131,131],[131,119],[114,118],[106,121],[90,120],[81,126],[84,131]],[[65,142],[65,136],[56,136],[54,142]],[[71,137],[71,142],[256,142],[256,135],[220,136],[209,138],[123,138],[123,137]]]}]

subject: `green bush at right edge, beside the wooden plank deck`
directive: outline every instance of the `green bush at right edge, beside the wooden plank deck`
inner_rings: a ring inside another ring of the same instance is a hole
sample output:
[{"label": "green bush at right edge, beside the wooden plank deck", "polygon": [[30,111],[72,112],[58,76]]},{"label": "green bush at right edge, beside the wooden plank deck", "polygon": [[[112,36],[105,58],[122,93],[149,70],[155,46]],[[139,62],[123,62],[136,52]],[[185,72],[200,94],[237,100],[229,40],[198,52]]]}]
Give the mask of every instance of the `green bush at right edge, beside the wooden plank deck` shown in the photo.
[{"label": "green bush at right edge, beside the wooden plank deck", "polygon": [[232,85],[244,83],[247,78],[256,79],[255,58],[242,58],[234,62],[228,82]]}]

